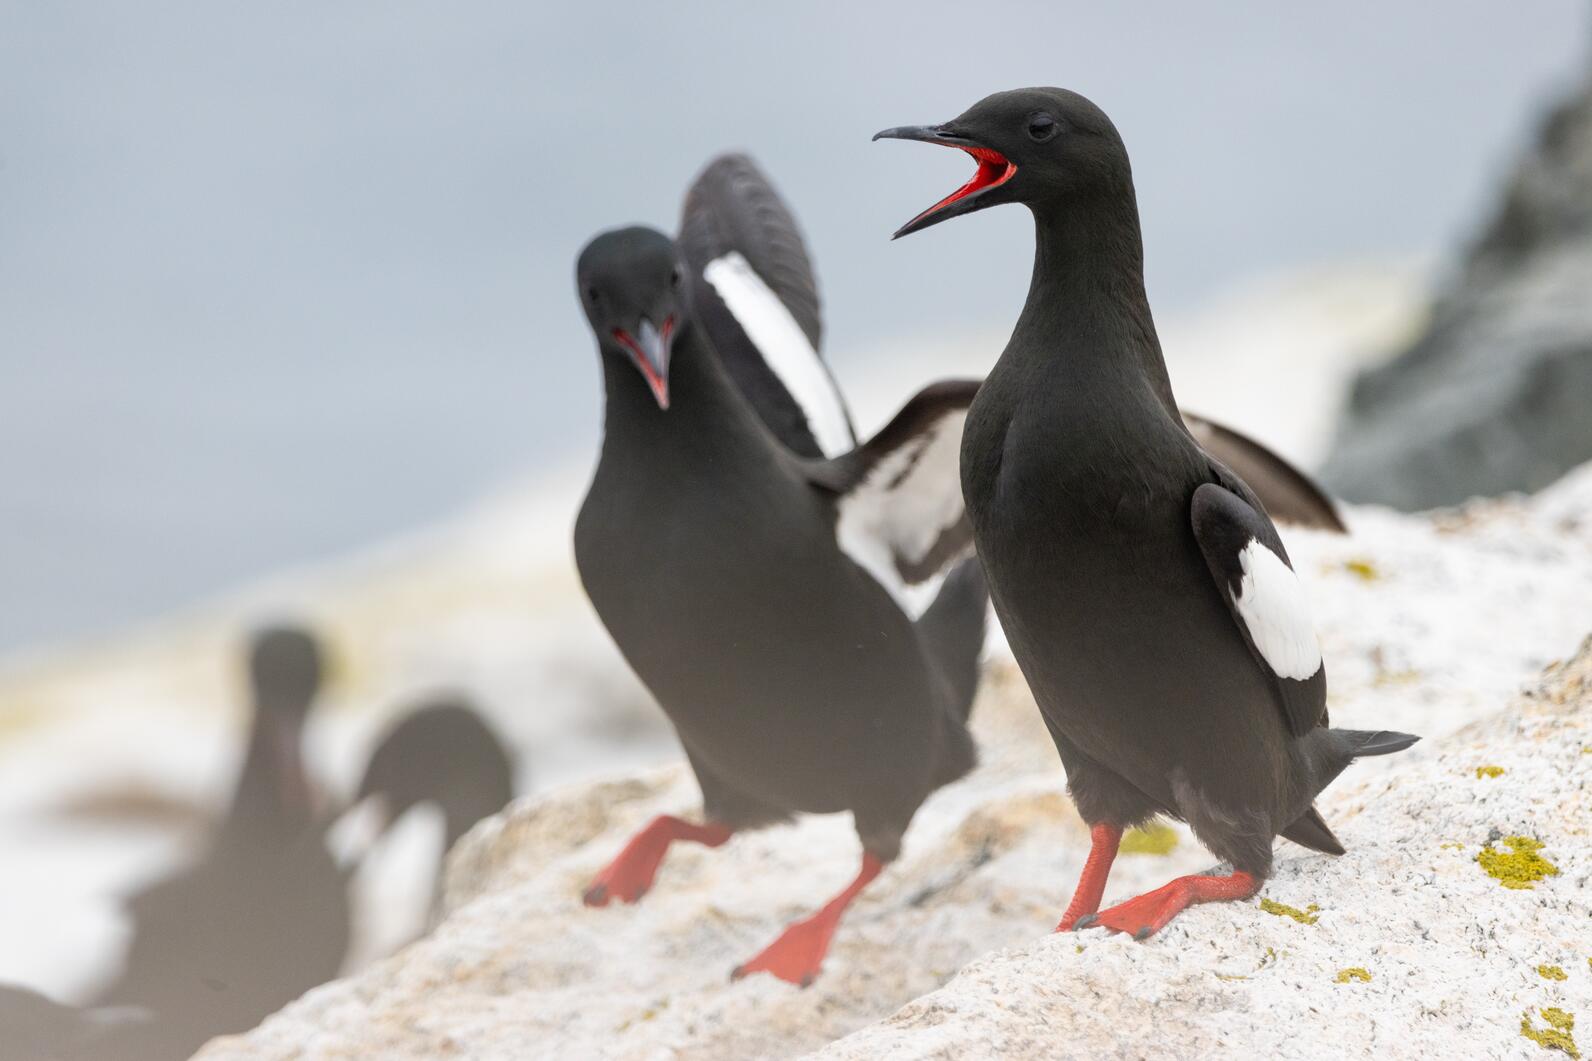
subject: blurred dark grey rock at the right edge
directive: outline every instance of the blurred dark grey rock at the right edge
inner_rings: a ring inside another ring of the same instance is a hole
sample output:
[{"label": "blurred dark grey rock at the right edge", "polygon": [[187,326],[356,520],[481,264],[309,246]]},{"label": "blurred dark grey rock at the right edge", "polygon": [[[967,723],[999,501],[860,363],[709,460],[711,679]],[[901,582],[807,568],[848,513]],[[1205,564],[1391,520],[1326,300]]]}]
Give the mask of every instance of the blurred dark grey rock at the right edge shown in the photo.
[{"label": "blurred dark grey rock at the right edge", "polygon": [[1543,121],[1407,350],[1363,373],[1321,478],[1415,510],[1592,460],[1592,84]]}]

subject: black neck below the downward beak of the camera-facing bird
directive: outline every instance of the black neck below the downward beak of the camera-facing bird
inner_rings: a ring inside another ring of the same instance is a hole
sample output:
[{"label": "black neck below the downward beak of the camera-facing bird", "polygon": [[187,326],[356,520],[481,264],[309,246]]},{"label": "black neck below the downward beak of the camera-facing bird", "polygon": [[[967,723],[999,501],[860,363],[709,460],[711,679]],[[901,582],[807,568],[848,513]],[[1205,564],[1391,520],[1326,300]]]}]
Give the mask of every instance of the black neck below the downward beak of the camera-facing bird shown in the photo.
[{"label": "black neck below the downward beak of the camera-facing bird", "polygon": [[736,389],[700,325],[693,323],[675,339],[669,362],[669,408],[657,408],[646,379],[624,355],[603,350],[603,454],[637,451],[650,456],[680,451],[715,460],[761,452],[766,429],[747,398]]}]

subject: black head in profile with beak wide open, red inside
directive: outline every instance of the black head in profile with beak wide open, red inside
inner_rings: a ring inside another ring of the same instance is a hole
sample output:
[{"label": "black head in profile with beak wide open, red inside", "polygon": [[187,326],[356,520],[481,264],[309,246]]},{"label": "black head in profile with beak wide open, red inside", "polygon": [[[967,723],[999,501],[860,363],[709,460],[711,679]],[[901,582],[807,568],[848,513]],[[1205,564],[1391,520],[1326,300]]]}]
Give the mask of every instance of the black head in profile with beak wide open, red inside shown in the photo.
[{"label": "black head in profile with beak wide open, red inside", "polygon": [[944,124],[899,126],[874,139],[962,148],[979,164],[973,180],[903,225],[893,239],[1001,202],[1036,207],[1121,194],[1134,183],[1116,126],[1103,110],[1067,89],[997,92]]}]

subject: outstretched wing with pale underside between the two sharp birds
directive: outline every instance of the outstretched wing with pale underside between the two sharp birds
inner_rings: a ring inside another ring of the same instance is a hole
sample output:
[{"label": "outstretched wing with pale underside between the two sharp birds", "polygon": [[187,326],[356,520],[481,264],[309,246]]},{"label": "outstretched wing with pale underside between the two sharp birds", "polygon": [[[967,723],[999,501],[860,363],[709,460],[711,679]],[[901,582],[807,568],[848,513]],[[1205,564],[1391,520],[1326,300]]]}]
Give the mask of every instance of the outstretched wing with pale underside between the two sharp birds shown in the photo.
[{"label": "outstretched wing with pale underside between the two sharp birds", "polygon": [[973,545],[958,465],[977,389],[973,379],[931,384],[852,452],[809,465],[837,495],[841,548],[887,585],[928,581]]}]

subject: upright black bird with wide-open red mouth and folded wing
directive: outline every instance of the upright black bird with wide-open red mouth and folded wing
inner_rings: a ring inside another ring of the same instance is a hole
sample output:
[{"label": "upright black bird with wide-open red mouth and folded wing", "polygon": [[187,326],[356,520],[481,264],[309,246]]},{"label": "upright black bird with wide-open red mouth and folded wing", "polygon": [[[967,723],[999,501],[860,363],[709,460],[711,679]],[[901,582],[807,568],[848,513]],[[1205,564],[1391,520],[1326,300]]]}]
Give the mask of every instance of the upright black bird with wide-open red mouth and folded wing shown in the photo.
[{"label": "upright black bird with wide-open red mouth and folded wing", "polygon": [[[1331,730],[1305,594],[1254,491],[1178,414],[1145,298],[1127,151],[1083,96],[1000,92],[874,139],[977,170],[896,236],[1033,212],[1028,300],[968,413],[962,486],[990,596],[1092,849],[1059,929],[1137,937],[1253,895],[1283,835],[1342,854],[1313,808],[1353,758],[1417,738]],[[1097,913],[1122,830],[1189,824],[1231,863]]]}]

